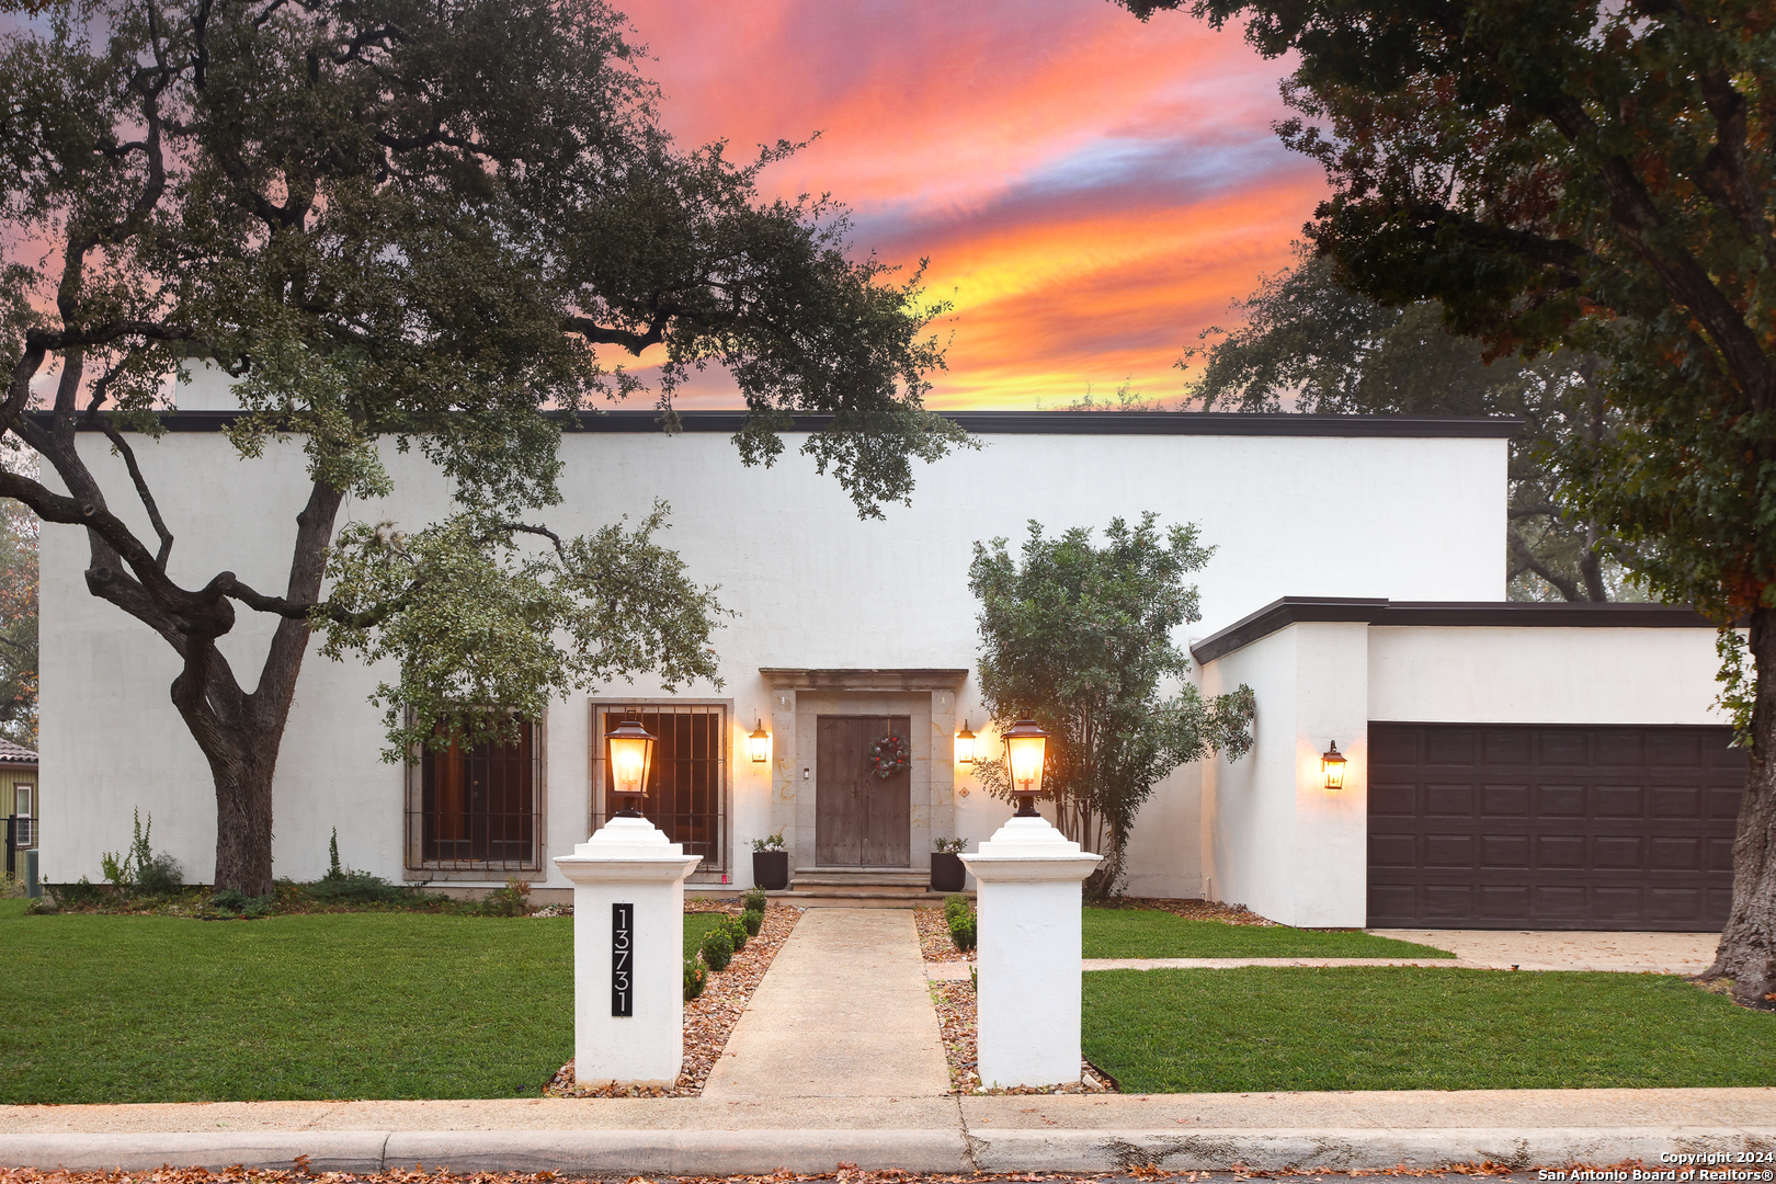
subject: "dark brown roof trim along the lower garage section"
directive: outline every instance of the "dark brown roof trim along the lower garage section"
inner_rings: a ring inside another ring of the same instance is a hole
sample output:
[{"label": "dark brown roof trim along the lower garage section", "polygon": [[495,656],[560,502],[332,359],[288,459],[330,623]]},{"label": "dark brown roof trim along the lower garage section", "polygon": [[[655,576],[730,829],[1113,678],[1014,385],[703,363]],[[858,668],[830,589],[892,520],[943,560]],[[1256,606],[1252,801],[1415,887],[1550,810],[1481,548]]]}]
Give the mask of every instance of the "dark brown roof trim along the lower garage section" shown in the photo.
[{"label": "dark brown roof trim along the lower garage section", "polygon": [[1687,605],[1545,604],[1529,600],[1369,600],[1282,596],[1190,646],[1199,662],[1249,646],[1304,621],[1440,628],[1716,628]]}]

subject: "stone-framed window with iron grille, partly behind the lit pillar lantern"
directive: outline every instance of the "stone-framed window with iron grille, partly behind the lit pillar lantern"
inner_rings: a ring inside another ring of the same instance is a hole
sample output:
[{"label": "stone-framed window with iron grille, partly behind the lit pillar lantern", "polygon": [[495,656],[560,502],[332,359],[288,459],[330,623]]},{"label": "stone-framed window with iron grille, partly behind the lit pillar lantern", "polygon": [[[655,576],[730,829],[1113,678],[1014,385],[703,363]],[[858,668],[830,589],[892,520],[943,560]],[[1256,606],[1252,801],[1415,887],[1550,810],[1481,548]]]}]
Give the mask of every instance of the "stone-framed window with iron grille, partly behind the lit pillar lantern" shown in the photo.
[{"label": "stone-framed window with iron grille, partly behind the lit pillar lantern", "polygon": [[721,703],[593,703],[591,829],[616,811],[611,792],[609,746],[604,737],[625,719],[654,737],[641,813],[684,843],[684,854],[702,856],[696,879],[728,870],[728,708]]}]

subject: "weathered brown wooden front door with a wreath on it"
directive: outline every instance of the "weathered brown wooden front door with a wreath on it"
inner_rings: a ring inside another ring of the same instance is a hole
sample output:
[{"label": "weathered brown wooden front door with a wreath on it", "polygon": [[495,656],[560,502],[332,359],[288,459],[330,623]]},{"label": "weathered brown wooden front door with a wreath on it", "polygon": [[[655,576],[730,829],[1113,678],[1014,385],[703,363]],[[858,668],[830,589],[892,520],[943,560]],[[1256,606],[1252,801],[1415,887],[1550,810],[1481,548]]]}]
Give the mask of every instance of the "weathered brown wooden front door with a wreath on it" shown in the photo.
[{"label": "weathered brown wooden front door with a wreath on it", "polygon": [[911,866],[913,777],[870,772],[870,746],[911,737],[908,715],[821,715],[815,744],[813,857],[822,868]]}]

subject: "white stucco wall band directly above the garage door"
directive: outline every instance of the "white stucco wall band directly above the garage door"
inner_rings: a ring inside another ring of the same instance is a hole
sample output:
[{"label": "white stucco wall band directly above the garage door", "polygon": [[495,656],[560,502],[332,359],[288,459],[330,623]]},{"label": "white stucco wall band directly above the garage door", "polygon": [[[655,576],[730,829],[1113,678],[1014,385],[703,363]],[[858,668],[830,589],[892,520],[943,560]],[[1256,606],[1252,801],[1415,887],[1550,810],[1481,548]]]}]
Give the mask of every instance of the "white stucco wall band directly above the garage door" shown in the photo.
[{"label": "white stucco wall band directly above the garage door", "polygon": [[1721,724],[1710,628],[1369,628],[1369,719]]}]

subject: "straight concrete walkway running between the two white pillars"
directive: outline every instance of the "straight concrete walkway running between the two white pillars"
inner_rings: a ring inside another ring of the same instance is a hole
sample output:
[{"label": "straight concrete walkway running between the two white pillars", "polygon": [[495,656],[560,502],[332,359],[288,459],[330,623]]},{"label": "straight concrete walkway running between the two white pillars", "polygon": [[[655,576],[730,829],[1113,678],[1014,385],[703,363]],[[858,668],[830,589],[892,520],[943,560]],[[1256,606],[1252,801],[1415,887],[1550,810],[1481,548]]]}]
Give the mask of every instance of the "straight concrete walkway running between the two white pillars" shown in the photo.
[{"label": "straight concrete walkway running between the two white pillars", "polygon": [[943,1033],[908,909],[810,909],[728,1037],[703,1097],[941,1097]]}]

